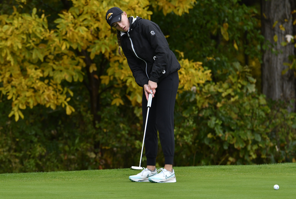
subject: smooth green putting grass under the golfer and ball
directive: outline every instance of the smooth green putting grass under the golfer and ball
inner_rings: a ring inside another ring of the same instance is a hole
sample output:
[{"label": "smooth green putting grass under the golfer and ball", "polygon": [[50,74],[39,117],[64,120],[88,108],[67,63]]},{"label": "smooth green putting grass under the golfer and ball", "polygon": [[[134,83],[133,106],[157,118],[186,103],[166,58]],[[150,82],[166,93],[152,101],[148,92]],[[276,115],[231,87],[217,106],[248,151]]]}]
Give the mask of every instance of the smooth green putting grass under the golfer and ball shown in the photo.
[{"label": "smooth green putting grass under the golfer and ball", "polygon": [[295,163],[174,170],[176,183],[131,182],[130,169],[0,174],[0,198],[296,198]]}]

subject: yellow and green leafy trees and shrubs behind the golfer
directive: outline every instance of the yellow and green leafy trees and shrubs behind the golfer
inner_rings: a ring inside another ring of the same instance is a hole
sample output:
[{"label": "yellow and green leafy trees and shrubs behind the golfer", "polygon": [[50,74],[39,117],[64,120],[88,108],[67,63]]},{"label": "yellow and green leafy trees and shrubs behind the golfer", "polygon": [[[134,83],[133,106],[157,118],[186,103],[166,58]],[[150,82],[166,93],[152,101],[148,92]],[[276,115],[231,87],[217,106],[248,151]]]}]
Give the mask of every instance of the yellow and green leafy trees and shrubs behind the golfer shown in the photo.
[{"label": "yellow and green leafy trees and shrubs behind the golfer", "polygon": [[113,6],[158,23],[179,57],[175,165],[296,162],[295,113],[260,94],[258,4],[120,2],[1,4],[1,173],[138,163],[142,89],[105,22]]}]

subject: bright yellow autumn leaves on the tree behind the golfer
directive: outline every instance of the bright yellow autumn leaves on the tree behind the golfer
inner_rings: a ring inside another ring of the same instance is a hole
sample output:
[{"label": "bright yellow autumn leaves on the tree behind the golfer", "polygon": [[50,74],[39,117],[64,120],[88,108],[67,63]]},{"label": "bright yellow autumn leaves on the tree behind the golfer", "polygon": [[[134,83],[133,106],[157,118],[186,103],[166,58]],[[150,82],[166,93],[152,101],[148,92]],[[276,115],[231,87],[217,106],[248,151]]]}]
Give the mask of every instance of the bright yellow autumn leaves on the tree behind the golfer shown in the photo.
[{"label": "bright yellow autumn leaves on the tree behind the golfer", "polygon": [[[22,0],[25,2],[25,0]],[[0,15],[0,91],[1,95],[12,99],[9,116],[24,118],[21,110],[33,108],[37,104],[56,109],[65,107],[70,115],[74,110],[68,102],[73,96],[69,88],[63,88],[63,81],[83,81],[83,68],[87,66],[86,55],[91,60],[100,55],[108,59],[110,67],[107,75],[93,77],[108,85],[116,78],[117,87],[127,86],[127,97],[132,105],[141,103],[142,89],[135,83],[127,60],[119,56],[116,34],[110,31],[105,21],[105,12],[116,6],[131,16],[150,19],[150,6],[161,9],[164,14],[175,12],[182,15],[189,12],[195,0],[162,1],[102,1],[72,0],[72,7],[61,12],[55,23],[57,29],[49,30],[46,16],[18,13]],[[24,4],[25,6],[25,4]],[[201,63],[185,59],[180,61],[180,89],[210,80],[210,71],[204,71]],[[88,65],[89,72],[97,71],[98,63]],[[181,91],[180,90],[180,91]],[[113,104],[123,104],[117,97]]]}]

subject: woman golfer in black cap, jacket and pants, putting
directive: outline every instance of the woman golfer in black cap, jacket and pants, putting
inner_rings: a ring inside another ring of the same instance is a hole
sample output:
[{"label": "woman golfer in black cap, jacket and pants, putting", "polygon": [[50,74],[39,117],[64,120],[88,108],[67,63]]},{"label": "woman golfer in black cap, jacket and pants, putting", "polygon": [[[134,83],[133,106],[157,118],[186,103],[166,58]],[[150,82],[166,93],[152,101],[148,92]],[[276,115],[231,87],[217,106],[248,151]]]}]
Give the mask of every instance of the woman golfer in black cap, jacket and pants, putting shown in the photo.
[{"label": "woman golfer in black cap, jacket and pants, putting", "polygon": [[[174,107],[180,64],[156,23],[140,17],[127,18],[127,13],[118,7],[107,11],[106,20],[117,29],[119,54],[121,46],[136,83],[143,87],[143,129],[149,93],[154,98],[145,135],[147,168],[137,175],[129,176],[129,179],[135,182],[176,182],[172,165],[175,151]],[[165,159],[164,168],[159,170],[155,168],[157,130]]]}]

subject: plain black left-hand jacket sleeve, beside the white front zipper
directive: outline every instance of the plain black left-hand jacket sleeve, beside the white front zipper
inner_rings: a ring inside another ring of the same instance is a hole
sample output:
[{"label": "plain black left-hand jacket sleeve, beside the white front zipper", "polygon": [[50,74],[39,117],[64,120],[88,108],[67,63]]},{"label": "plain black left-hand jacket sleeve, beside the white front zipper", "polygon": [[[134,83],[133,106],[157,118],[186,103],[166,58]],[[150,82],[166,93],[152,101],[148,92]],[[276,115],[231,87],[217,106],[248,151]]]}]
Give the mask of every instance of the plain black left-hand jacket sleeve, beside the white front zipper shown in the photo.
[{"label": "plain black left-hand jacket sleeve, beside the white front zipper", "polygon": [[123,50],[124,56],[127,58],[127,63],[129,64],[129,68],[132,71],[132,75],[134,76],[136,83],[141,87],[143,87],[145,84],[148,84],[149,79],[147,75],[140,68],[135,57],[129,53],[126,45],[121,45],[121,48]]}]

